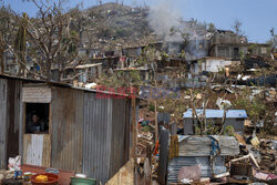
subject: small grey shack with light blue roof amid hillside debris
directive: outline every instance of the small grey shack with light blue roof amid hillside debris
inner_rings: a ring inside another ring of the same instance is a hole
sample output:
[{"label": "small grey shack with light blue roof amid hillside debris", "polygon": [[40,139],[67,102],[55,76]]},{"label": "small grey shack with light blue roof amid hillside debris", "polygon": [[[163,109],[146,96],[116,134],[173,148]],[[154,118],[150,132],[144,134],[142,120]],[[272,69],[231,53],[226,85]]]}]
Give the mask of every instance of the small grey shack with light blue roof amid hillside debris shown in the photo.
[{"label": "small grey shack with light blue roof amid hillside debris", "polygon": [[[204,110],[196,110],[198,116],[206,117],[207,125],[216,125],[220,124],[224,110],[206,110],[206,114],[204,114]],[[245,110],[227,110],[226,120],[224,126],[233,126],[235,132],[242,133],[244,132],[244,125],[247,120],[247,114]],[[189,109],[183,114],[184,119],[184,133],[185,135],[194,134],[193,131],[193,111]],[[194,123],[197,123],[196,116],[194,117]]]}]

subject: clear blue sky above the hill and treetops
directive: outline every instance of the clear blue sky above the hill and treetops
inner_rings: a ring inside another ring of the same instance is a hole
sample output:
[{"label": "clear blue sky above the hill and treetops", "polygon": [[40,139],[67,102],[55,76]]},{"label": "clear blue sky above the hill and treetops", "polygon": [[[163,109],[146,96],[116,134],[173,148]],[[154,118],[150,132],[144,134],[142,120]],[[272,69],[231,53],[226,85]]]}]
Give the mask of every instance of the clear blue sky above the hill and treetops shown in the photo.
[{"label": "clear blue sky above the hill and treetops", "polygon": [[[18,12],[25,11],[35,16],[32,3],[22,0],[2,0]],[[102,0],[102,2],[116,0]],[[243,22],[243,30],[250,42],[265,42],[270,37],[270,28],[277,32],[277,0],[117,0],[124,4],[143,4],[151,7],[161,1],[170,1],[172,11],[178,12],[184,19],[197,19],[213,22],[217,29],[230,29],[235,19]],[[68,8],[83,2],[83,8],[98,4],[99,0],[68,0]]]}]

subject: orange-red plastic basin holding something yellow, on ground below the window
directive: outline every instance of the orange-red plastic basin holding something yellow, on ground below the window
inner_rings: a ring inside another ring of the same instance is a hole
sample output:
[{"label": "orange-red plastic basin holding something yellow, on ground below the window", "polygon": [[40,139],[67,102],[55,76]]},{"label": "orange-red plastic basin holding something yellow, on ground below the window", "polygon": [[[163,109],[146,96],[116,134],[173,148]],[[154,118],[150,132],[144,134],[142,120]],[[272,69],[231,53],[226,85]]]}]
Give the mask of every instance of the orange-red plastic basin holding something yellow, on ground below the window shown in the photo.
[{"label": "orange-red plastic basin holding something yellow, on ground below the window", "polygon": [[33,185],[58,185],[58,181],[59,175],[55,174],[44,173],[31,176],[31,182]]}]

